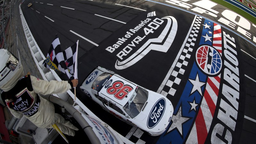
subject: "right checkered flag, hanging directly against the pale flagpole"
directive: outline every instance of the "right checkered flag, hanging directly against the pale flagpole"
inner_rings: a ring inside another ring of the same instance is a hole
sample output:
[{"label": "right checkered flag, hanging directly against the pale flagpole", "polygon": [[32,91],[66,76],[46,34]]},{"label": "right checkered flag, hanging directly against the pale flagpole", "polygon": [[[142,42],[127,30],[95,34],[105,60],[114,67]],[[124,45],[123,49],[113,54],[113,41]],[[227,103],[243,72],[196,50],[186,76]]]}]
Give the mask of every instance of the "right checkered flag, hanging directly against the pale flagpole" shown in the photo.
[{"label": "right checkered flag, hanging directly against the pale flagpole", "polygon": [[70,46],[63,52],[65,64],[66,64],[66,66],[68,68],[68,72],[69,72],[69,77],[74,76],[77,45],[78,44],[76,42],[74,45]]}]

